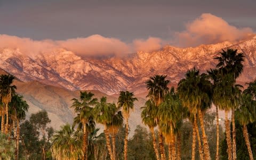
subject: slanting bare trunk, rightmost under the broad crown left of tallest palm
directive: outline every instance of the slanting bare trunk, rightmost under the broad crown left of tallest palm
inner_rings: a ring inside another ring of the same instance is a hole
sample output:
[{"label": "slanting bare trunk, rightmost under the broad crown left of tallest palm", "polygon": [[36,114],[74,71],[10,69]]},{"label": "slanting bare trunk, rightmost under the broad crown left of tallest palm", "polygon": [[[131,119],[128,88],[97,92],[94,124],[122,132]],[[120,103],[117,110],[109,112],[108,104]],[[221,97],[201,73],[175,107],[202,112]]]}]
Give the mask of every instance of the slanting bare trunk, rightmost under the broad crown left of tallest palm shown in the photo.
[{"label": "slanting bare trunk, rightmost under the broad crown left of tallest palm", "polygon": [[204,143],[205,159],[210,160],[211,154],[210,154],[209,144],[208,144],[208,140],[207,140],[207,135],[205,134],[205,130],[204,130],[204,120],[203,120],[201,109],[198,110],[198,113],[199,113],[201,129],[202,129],[202,139],[203,139],[203,143]]}]

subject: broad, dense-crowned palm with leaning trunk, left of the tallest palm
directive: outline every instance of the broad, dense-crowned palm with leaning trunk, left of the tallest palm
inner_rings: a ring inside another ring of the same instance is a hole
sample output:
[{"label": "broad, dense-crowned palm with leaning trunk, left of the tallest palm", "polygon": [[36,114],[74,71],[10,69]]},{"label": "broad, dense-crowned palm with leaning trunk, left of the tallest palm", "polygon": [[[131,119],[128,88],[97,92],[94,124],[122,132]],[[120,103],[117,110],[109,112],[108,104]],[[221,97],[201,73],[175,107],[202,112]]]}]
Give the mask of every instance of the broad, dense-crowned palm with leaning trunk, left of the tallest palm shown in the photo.
[{"label": "broad, dense-crowned palm with leaning trunk, left of the tallest palm", "polygon": [[199,70],[193,68],[188,70],[185,78],[178,84],[178,92],[182,105],[188,107],[191,114],[194,115],[194,121],[197,114],[202,129],[202,139],[205,159],[211,159],[209,144],[204,129],[202,110],[209,108],[212,97],[212,84],[205,74],[199,75]]}]

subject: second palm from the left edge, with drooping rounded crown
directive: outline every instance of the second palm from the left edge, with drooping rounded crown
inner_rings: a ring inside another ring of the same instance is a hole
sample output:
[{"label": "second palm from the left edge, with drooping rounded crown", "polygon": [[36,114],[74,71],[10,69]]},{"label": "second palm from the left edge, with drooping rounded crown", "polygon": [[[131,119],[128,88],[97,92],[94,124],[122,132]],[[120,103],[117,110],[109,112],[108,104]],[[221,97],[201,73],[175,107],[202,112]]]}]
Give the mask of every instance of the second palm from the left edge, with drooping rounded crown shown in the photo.
[{"label": "second palm from the left edge, with drooping rounded crown", "polygon": [[[28,104],[23,97],[18,94],[14,94],[11,102],[9,103],[10,113],[13,121],[13,133],[16,138],[15,147],[15,159],[18,159],[19,155],[19,141],[20,141],[20,121],[26,118],[26,111],[28,111]],[[16,122],[16,127],[15,127]]]}]

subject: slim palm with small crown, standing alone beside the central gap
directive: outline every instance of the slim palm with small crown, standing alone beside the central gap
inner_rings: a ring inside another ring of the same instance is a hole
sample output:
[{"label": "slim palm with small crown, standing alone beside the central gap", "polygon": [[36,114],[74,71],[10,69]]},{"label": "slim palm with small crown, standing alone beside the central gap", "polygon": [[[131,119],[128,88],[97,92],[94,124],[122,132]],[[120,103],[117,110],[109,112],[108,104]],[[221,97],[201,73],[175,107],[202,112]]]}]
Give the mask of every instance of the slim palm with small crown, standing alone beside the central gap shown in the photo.
[{"label": "slim palm with small crown, standing alone beside the central gap", "polygon": [[134,101],[138,100],[137,98],[133,97],[133,93],[129,91],[121,91],[119,98],[118,98],[118,107],[123,108],[122,114],[125,118],[126,122],[126,129],[125,129],[125,138],[124,138],[124,159],[127,160],[127,145],[128,145],[128,130],[129,130],[129,124],[128,119],[130,117],[130,110],[133,109]]}]

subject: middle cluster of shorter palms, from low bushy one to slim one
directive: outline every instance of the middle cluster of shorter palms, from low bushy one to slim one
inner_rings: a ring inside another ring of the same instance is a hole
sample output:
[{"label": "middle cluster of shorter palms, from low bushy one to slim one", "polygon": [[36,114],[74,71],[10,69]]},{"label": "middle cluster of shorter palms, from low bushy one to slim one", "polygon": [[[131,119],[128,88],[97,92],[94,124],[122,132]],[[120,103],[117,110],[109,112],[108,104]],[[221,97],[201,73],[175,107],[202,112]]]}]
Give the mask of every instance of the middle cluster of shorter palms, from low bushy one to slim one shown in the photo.
[{"label": "middle cluster of shorter palms, from low bushy one to slim one", "polygon": [[[102,97],[100,101],[97,98],[93,98],[94,94],[89,92],[80,92],[79,99],[72,99],[73,105],[71,108],[74,108],[76,117],[74,118],[73,127],[63,126],[62,130],[57,132],[53,136],[52,142],[52,156],[55,159],[87,159],[88,158],[88,136],[89,133],[95,130],[95,122],[104,125],[105,137],[107,143],[107,149],[111,160],[116,159],[116,134],[119,128],[123,125],[123,118],[126,122],[126,133],[124,139],[124,159],[127,159],[127,145],[128,145],[128,131],[129,124],[128,119],[130,116],[130,111],[133,109],[134,101],[137,98],[134,98],[133,93],[131,92],[120,92],[118,103],[109,103],[107,102],[106,97]],[[120,110],[122,108],[122,111]],[[71,132],[74,130],[74,127],[77,127],[77,131]],[[64,128],[66,127],[66,129]],[[74,134],[74,135],[72,135]],[[79,134],[82,134],[82,144],[79,141]],[[67,147],[65,143],[65,138],[68,137],[74,142],[70,144],[70,148],[77,149],[79,144],[82,146],[81,149],[77,151],[69,150],[63,151]],[[73,138],[72,138],[73,137]],[[64,147],[65,146],[65,147]],[[64,148],[63,148],[64,147]]]}]

